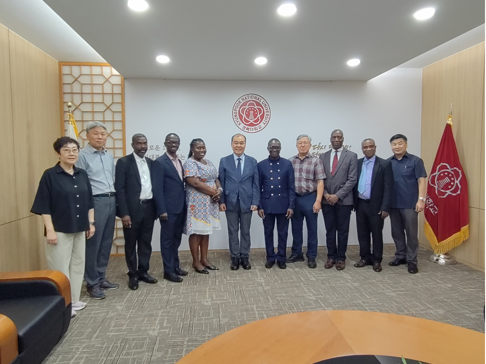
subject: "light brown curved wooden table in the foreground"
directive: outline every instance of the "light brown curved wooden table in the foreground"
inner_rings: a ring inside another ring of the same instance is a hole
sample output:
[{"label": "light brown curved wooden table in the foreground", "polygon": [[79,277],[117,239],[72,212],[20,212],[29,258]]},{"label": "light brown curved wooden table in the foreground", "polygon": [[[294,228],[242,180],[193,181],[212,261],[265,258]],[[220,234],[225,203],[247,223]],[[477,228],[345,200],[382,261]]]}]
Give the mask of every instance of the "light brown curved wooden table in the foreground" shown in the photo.
[{"label": "light brown curved wooden table in the foreground", "polygon": [[485,334],[388,313],[300,312],[228,331],[177,364],[313,364],[346,355],[403,356],[432,364],[484,364]]}]

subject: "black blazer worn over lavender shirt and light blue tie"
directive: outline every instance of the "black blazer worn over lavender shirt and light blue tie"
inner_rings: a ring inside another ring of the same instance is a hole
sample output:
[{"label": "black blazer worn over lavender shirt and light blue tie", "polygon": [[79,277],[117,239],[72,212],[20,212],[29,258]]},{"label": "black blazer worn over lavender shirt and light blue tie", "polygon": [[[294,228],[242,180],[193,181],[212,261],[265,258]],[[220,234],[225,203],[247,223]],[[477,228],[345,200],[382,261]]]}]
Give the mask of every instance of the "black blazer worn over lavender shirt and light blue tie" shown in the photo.
[{"label": "black blazer worn over lavender shirt and light blue tie", "polygon": [[[363,168],[363,160],[364,158],[358,159],[358,182],[353,188],[355,206],[358,201],[358,184]],[[390,212],[392,189],[393,170],[391,169],[391,163],[377,155],[371,177],[370,204],[373,214],[378,214],[380,211]]]}]

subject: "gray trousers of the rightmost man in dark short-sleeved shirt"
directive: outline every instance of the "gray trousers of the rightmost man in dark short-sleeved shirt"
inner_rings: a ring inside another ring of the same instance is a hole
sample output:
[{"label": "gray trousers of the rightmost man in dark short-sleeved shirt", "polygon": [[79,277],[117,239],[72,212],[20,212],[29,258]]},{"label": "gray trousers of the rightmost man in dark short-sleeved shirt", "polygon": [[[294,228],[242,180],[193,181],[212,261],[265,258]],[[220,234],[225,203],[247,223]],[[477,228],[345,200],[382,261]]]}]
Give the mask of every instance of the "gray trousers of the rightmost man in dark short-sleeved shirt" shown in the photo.
[{"label": "gray trousers of the rightmost man in dark short-sleeved shirt", "polygon": [[415,209],[390,209],[390,224],[395,258],[417,264],[418,213]]}]

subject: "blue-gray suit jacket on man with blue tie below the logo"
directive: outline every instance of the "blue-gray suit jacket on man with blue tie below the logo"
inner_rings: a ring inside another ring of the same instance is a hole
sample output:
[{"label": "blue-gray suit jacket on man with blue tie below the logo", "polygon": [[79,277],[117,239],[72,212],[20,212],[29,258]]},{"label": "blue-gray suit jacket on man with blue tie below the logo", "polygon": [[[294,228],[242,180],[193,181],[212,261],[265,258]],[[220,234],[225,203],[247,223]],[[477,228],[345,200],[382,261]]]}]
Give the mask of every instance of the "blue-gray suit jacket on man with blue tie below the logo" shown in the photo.
[{"label": "blue-gray suit jacket on man with blue tie below the logo", "polygon": [[233,153],[221,158],[219,161],[219,182],[223,188],[220,204],[226,204],[228,211],[233,211],[238,194],[240,196],[240,209],[249,212],[251,205],[260,204],[260,184],[258,181],[257,160],[245,154],[245,164],[241,180],[236,175],[236,163]]}]

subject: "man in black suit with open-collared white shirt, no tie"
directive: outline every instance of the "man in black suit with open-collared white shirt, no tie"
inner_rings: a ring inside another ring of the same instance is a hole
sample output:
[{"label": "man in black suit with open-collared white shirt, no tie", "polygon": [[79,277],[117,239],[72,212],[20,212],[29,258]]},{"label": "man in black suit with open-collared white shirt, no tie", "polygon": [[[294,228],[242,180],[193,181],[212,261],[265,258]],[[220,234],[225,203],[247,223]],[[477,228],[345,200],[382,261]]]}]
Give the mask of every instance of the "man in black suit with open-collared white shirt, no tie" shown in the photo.
[{"label": "man in black suit with open-collared white shirt, no tie", "polygon": [[152,159],[145,157],[146,136],[133,135],[132,148],[133,153],[116,162],[115,196],[116,215],[123,224],[128,287],[137,289],[139,279],[147,283],[157,283],[157,279],[148,274],[157,212],[152,199]]}]

